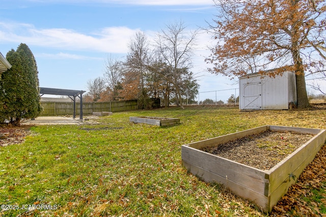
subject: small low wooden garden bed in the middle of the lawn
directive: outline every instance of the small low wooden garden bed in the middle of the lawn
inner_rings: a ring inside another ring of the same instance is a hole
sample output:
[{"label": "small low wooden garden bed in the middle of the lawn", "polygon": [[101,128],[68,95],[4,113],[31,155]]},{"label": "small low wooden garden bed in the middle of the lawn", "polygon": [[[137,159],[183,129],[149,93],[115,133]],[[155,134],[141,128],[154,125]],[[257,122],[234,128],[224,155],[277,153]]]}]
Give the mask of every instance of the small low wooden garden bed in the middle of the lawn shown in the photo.
[{"label": "small low wooden garden bed in the middle of the lawn", "polygon": [[156,126],[170,126],[180,123],[180,118],[169,118],[169,117],[151,117],[151,116],[140,116],[140,117],[129,117],[129,120],[134,123],[147,123],[149,125]]}]

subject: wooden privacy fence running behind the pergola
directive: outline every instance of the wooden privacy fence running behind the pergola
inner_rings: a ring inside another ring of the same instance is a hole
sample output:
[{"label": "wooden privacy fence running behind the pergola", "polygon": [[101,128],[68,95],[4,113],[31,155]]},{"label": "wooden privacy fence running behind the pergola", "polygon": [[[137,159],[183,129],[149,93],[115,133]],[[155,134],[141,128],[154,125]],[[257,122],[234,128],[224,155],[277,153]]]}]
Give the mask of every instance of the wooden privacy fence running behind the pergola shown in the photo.
[{"label": "wooden privacy fence running behind the pergola", "polygon": [[[43,111],[40,116],[73,115],[73,102],[40,102]],[[139,109],[137,100],[83,103],[83,115],[91,115],[93,111],[129,111]],[[80,104],[76,102],[76,115],[80,114]]]}]

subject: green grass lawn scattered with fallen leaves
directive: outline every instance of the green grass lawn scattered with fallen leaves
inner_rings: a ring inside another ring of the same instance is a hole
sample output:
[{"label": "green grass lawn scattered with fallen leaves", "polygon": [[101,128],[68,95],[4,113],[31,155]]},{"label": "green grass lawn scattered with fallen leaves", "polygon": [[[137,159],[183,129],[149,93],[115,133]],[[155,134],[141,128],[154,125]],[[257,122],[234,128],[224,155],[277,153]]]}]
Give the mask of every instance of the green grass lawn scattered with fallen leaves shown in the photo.
[{"label": "green grass lawn scattered with fallen leaves", "polygon": [[[134,124],[129,116],[176,117],[180,124]],[[189,174],[181,145],[263,125],[325,129],[326,110],[196,106],[118,112],[96,121],[101,124],[32,127],[24,143],[0,147],[0,204],[10,208],[0,216],[266,216]],[[324,189],[316,191],[322,201]]]}]

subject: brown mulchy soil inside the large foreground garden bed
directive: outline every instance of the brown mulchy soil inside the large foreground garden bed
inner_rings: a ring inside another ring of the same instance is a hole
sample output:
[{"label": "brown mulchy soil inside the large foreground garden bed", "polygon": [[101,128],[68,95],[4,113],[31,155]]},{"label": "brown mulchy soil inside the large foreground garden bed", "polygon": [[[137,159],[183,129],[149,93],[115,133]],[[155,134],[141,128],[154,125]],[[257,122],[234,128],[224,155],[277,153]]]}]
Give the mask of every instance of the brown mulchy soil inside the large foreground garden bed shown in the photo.
[{"label": "brown mulchy soil inside the large foreground garden bed", "polygon": [[314,135],[265,131],[200,150],[261,170],[269,170]]}]

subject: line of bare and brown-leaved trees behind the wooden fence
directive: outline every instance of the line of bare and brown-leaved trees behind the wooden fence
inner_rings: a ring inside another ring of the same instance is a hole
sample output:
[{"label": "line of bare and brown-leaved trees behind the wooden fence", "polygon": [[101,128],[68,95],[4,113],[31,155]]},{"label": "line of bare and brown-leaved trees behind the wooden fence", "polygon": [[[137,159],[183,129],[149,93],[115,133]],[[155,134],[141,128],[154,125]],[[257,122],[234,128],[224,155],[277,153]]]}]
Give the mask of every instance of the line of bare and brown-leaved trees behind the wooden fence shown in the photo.
[{"label": "line of bare and brown-leaved trees behind the wooden fence", "polygon": [[182,21],[166,25],[153,42],[138,32],[128,43],[121,60],[110,54],[103,77],[89,80],[88,97],[93,101],[138,99],[144,108],[150,98],[161,98],[183,107],[185,95],[195,99],[199,85],[194,78],[192,57],[198,29],[188,32]]}]

